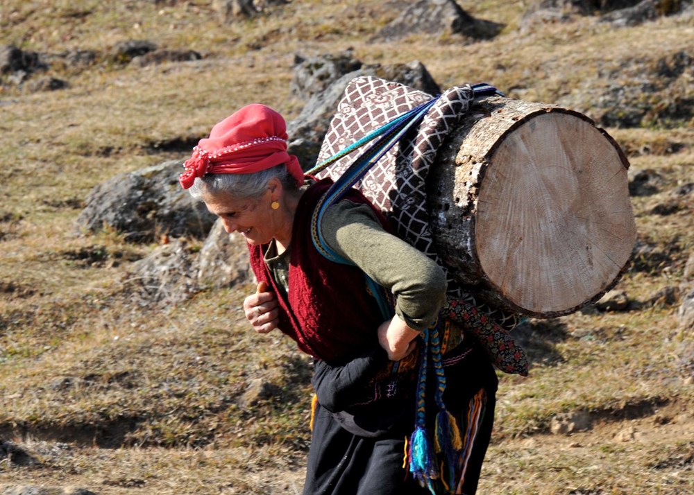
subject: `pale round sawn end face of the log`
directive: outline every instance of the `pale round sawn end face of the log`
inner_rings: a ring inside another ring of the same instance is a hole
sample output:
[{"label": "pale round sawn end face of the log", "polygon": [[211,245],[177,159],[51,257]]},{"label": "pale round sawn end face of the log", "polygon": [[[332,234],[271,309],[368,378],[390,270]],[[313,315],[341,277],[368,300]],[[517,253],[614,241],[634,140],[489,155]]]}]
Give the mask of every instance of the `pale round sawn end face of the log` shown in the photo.
[{"label": "pale round sawn end face of the log", "polygon": [[573,309],[606,290],[636,237],[626,174],[618,149],[575,115],[539,115],[507,134],[477,201],[486,278],[530,313]]}]

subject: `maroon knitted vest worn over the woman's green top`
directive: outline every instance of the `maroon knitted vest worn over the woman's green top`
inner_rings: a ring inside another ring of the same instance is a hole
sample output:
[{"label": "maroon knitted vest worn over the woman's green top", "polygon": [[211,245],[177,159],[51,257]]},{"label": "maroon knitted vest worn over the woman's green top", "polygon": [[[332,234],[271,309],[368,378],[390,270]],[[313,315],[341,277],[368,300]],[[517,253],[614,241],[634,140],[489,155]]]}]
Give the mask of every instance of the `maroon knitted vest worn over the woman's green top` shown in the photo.
[{"label": "maroon knitted vest worn over the woman's green top", "polygon": [[[330,179],[312,184],[299,200],[291,232],[287,295],[278,290],[264,262],[268,246],[248,245],[248,250],[255,277],[266,281],[278,296],[280,330],[307,354],[330,365],[341,365],[364,349],[378,345],[376,330],[383,318],[375,298],[366,290],[364,272],[328,260],[312,241],[313,211],[330,184]],[[355,190],[344,198],[371,205]],[[390,231],[381,212],[374,211]]]}]

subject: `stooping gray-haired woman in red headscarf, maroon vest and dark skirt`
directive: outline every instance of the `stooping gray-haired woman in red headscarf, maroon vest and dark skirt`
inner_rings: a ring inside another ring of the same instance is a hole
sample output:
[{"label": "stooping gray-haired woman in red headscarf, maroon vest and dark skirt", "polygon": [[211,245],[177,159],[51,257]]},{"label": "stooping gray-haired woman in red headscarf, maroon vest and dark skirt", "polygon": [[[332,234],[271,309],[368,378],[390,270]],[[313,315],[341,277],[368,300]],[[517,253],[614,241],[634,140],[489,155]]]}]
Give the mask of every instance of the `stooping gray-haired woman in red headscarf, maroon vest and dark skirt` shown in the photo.
[{"label": "stooping gray-haired woman in red headscarf, maroon vest and dark skirt", "polygon": [[[446,400],[463,431],[451,476],[428,489],[403,467],[416,411],[418,342],[446,302],[439,266],[393,235],[381,212],[350,191],[323,216],[314,245],[312,216],[330,180],[305,176],[287,154],[285,120],[248,105],[214,125],[185,163],[180,184],[203,200],[227,232],[248,242],[259,281],[244,301],[258,333],[279,329],[314,357],[316,392],[305,494],[473,494],[493,422],[496,374],[460,331],[446,325]],[[384,316],[365,275],[389,295]],[[482,393],[480,393],[482,392]],[[484,395],[486,414],[468,406]],[[474,442],[473,442],[474,440]],[[439,491],[440,490],[440,491]]]}]

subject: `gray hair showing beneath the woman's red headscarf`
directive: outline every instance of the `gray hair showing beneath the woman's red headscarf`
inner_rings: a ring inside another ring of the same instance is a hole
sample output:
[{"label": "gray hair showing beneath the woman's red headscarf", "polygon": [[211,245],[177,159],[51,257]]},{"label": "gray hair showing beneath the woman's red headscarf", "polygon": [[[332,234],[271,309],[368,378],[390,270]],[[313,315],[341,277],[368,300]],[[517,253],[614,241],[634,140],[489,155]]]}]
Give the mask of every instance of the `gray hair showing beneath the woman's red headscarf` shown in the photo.
[{"label": "gray hair showing beneath the woman's red headscarf", "polygon": [[188,191],[198,201],[202,200],[205,194],[256,199],[262,196],[267,183],[274,177],[277,177],[282,182],[282,187],[288,191],[298,189],[296,179],[289,174],[287,166],[281,164],[255,173],[208,173],[205,177],[196,178]]}]

